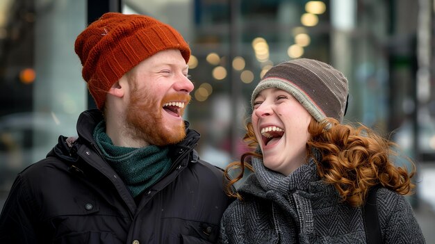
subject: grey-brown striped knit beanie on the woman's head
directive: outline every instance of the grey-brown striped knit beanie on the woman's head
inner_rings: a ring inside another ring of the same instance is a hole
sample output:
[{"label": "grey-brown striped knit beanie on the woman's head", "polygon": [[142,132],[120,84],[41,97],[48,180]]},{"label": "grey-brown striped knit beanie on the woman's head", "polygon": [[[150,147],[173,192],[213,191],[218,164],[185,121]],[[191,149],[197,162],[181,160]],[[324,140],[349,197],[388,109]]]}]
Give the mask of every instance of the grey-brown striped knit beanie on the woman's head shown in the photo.
[{"label": "grey-brown striped knit beanie on the woman's head", "polygon": [[275,65],[252,92],[251,104],[259,92],[268,88],[278,88],[293,95],[318,122],[326,117],[343,122],[347,79],[331,65],[309,58]]}]

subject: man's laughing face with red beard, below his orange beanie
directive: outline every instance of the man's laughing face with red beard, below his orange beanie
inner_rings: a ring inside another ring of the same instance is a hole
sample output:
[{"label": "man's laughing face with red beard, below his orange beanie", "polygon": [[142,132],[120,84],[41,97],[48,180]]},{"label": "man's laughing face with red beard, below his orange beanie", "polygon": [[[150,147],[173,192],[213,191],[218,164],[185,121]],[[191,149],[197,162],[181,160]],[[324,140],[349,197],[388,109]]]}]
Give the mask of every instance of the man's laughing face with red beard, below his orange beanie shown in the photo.
[{"label": "man's laughing face with red beard, below his orange beanie", "polygon": [[151,145],[178,143],[186,136],[183,113],[193,84],[178,49],[160,51],[129,72],[126,124],[133,138]]}]

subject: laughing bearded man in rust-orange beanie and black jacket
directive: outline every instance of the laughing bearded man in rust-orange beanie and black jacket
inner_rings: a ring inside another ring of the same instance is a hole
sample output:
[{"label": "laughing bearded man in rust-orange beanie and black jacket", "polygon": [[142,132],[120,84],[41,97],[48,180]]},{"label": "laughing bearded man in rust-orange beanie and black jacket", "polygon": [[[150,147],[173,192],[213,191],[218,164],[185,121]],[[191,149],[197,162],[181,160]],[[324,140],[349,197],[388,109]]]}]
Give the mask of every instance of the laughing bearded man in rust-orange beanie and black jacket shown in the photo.
[{"label": "laughing bearded man in rust-orange beanie and black jacket", "polygon": [[99,108],[21,172],[0,243],[213,243],[230,200],[182,115],[190,48],[171,26],[106,13],[76,39]]}]

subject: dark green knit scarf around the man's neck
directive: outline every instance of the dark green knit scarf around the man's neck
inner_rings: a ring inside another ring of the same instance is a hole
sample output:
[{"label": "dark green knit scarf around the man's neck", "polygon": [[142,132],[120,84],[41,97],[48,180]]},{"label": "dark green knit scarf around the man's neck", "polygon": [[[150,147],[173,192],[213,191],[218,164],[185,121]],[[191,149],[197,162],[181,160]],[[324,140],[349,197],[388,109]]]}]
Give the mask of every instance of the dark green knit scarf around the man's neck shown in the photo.
[{"label": "dark green knit scarf around the man's neck", "polygon": [[94,129],[94,139],[106,161],[120,174],[133,197],[155,184],[170,169],[172,160],[168,156],[168,147],[117,147],[105,131],[106,123],[99,122]]}]

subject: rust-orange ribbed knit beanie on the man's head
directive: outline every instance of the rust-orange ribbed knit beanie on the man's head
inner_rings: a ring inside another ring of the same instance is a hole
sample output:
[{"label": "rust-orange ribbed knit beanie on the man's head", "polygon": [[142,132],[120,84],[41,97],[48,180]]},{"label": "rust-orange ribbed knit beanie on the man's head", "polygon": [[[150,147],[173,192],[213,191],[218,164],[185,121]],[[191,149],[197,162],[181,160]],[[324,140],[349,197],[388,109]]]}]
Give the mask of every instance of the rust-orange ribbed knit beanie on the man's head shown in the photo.
[{"label": "rust-orange ribbed knit beanie on the man's head", "polygon": [[152,17],[122,13],[104,14],[75,42],[83,79],[99,109],[113,83],[142,60],[166,49],[179,49],[188,63],[189,45],[174,28]]}]

